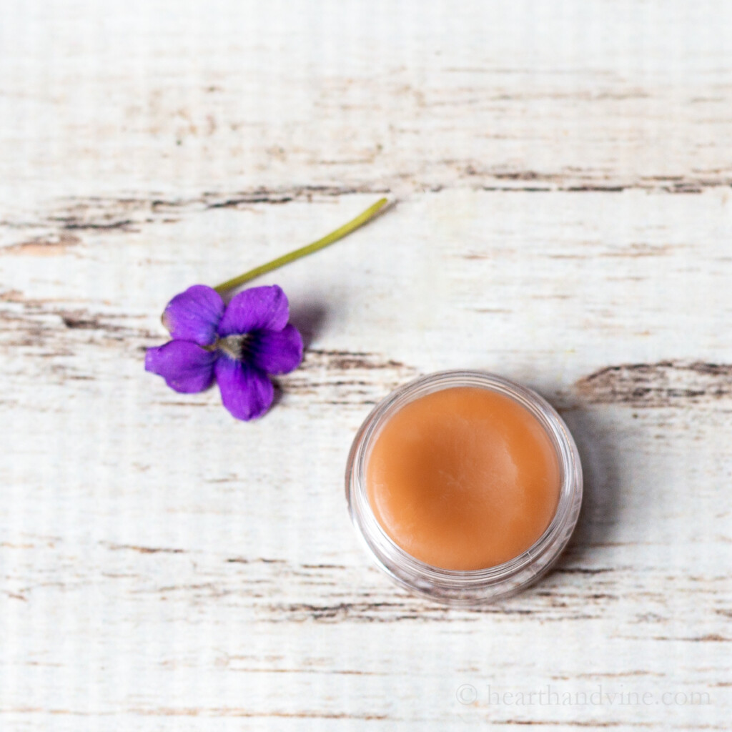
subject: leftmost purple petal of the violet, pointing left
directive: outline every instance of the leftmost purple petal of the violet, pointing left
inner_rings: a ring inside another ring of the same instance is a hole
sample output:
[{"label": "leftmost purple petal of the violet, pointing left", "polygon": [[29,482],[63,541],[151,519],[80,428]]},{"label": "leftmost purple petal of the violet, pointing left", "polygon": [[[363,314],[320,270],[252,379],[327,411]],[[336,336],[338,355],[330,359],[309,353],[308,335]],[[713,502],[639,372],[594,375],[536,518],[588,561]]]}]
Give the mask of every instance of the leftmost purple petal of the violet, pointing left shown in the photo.
[{"label": "leftmost purple petal of the violet, pointing left", "polygon": [[157,373],[176,392],[202,392],[214,378],[217,354],[205,351],[190,340],[170,340],[164,346],[148,348],[145,370]]}]

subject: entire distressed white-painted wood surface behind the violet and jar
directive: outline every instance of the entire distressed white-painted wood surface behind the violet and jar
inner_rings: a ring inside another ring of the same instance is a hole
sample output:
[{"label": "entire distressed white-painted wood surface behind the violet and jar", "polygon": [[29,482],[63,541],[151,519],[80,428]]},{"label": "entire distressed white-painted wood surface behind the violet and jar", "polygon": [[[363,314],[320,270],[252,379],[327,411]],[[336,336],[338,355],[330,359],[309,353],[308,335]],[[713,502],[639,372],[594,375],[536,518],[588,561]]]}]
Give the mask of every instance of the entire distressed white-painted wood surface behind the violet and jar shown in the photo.
[{"label": "entire distressed white-painted wood surface behind the violet and jar", "polygon": [[[731,28],[4,0],[0,728],[729,728]],[[171,295],[385,192],[264,280],[309,342],[267,417],[143,372]],[[479,610],[392,586],[343,496],[373,403],[449,367],[539,389],[586,469],[556,571]]]}]

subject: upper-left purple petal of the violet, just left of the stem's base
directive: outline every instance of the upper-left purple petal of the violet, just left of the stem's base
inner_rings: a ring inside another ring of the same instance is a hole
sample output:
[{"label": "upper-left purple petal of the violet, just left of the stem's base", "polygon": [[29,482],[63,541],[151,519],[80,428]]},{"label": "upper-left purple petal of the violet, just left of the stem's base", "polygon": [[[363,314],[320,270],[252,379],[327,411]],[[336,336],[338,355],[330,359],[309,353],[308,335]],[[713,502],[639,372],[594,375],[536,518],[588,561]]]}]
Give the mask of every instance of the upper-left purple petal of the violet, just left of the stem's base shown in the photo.
[{"label": "upper-left purple petal of the violet, just left of the stem's base", "polygon": [[163,325],[175,340],[211,346],[224,313],[220,294],[206,285],[193,285],[173,297],[163,311]]}]

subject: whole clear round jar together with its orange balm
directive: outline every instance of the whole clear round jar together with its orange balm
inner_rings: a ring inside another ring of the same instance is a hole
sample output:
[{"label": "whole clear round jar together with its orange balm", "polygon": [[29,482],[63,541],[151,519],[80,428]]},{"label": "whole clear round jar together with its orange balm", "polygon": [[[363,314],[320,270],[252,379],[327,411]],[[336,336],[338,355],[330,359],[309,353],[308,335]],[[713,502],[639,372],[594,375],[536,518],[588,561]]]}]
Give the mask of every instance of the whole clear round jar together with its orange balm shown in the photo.
[{"label": "whole clear round jar together with its orange balm", "polygon": [[346,475],[378,564],[436,600],[473,603],[536,580],[579,515],[575,443],[542,397],[452,371],[397,389],[367,417]]}]

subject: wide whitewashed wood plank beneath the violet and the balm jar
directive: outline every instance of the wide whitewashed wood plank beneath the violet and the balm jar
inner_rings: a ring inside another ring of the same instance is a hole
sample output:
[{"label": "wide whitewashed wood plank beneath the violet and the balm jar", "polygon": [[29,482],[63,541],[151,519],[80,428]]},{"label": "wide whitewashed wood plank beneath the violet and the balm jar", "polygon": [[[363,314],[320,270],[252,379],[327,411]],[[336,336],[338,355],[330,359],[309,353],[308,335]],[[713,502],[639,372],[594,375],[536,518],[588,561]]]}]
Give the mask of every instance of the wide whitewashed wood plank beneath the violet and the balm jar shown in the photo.
[{"label": "wide whitewashed wood plank beneath the violet and the balm jar", "polygon": [[[239,717],[288,729],[723,728],[732,354],[704,313],[727,307],[724,194],[423,196],[278,274],[310,348],[266,419],[236,424],[215,390],[175,395],[143,373],[165,299],[225,275],[243,258],[240,231],[247,266],[367,201],[192,215],[156,227],[152,256],[145,232],[121,242],[94,230],[53,258],[1,258],[4,281],[27,288],[2,302],[8,723],[33,728],[65,710],[74,728],[106,714],[151,729],[169,717],[193,729]],[[487,209],[500,225],[482,234]],[[611,222],[612,237],[596,233]],[[194,250],[207,230],[213,246]],[[684,284],[671,301],[669,278]],[[479,610],[390,585],[343,501],[348,444],[370,405],[456,366],[541,389],[574,430],[588,478],[559,569]],[[418,668],[416,649],[427,653]],[[461,684],[477,690],[474,704],[457,700]],[[492,705],[489,684],[713,703],[599,716]]]}]

